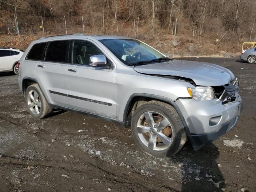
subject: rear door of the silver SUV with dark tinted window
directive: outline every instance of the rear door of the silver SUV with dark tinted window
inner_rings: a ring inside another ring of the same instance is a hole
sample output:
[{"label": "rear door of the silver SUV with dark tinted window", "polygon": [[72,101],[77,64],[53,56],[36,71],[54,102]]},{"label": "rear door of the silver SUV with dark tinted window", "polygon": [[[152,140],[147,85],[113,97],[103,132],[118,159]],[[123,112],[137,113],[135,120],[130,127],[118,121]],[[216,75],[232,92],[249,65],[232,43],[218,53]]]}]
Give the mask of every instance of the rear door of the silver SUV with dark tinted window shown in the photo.
[{"label": "rear door of the silver SUV with dark tinted window", "polygon": [[51,104],[69,107],[68,87],[66,82],[66,62],[70,40],[48,42],[42,60],[38,61],[35,78]]}]

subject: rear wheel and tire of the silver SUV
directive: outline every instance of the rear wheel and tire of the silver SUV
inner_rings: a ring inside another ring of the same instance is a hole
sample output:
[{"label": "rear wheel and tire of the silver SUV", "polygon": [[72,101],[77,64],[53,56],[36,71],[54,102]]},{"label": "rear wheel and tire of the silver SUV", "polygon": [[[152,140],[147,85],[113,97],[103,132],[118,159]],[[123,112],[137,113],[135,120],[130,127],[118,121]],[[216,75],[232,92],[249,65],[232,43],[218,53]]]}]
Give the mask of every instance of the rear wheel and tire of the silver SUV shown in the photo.
[{"label": "rear wheel and tire of the silver SUV", "polygon": [[44,118],[52,112],[38,84],[28,86],[25,93],[28,112],[34,118]]}]

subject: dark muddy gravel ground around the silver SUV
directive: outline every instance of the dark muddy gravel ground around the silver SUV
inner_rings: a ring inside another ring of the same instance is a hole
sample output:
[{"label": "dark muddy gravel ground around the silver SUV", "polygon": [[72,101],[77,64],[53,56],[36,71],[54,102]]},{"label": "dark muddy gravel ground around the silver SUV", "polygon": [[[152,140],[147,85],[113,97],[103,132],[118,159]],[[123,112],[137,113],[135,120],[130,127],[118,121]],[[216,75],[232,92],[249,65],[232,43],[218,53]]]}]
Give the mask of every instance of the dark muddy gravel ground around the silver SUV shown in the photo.
[{"label": "dark muddy gravel ground around the silver SUV", "polygon": [[[171,158],[145,154],[130,129],[104,120],[66,111],[36,120],[26,110],[17,76],[0,74],[0,191],[255,192],[256,64],[237,58],[187,60],[232,70],[240,79],[244,111],[212,144],[194,151],[186,142]],[[223,144],[234,139],[244,143]]]}]

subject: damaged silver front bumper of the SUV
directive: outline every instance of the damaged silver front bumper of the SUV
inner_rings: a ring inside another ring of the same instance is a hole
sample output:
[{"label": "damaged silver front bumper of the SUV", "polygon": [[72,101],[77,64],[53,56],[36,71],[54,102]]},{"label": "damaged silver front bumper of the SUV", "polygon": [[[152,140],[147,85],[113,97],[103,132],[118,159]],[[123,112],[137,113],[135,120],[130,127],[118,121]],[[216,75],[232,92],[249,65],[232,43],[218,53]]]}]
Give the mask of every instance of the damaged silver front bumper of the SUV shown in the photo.
[{"label": "damaged silver front bumper of the SUV", "polygon": [[179,99],[175,102],[188,125],[190,133],[187,135],[195,150],[213,142],[236,124],[242,113],[243,103],[238,93],[235,96],[236,100],[227,103],[219,99]]}]

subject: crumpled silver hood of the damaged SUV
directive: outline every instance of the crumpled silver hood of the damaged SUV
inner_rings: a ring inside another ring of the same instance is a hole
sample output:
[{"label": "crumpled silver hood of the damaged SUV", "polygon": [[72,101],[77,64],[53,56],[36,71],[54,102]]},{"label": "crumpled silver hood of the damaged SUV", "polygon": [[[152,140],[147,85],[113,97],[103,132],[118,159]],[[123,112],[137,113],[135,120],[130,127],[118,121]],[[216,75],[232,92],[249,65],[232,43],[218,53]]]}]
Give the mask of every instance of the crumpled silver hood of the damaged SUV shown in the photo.
[{"label": "crumpled silver hood of the damaged SUV", "polygon": [[220,86],[234,79],[234,74],[227,68],[206,62],[184,60],[135,66],[134,70],[143,74],[190,78],[200,86]]}]

